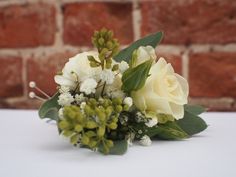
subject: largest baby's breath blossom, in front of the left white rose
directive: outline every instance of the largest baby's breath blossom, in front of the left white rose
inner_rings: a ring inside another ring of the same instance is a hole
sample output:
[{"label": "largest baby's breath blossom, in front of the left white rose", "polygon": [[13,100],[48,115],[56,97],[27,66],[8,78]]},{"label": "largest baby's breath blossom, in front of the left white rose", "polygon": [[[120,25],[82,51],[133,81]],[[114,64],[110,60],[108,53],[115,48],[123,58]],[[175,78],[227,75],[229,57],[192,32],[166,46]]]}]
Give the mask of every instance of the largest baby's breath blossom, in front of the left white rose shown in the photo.
[{"label": "largest baby's breath blossom, in front of the left white rose", "polygon": [[96,87],[97,87],[97,82],[94,79],[89,78],[82,82],[80,86],[80,91],[84,92],[86,95],[89,95],[91,93],[96,92]]}]

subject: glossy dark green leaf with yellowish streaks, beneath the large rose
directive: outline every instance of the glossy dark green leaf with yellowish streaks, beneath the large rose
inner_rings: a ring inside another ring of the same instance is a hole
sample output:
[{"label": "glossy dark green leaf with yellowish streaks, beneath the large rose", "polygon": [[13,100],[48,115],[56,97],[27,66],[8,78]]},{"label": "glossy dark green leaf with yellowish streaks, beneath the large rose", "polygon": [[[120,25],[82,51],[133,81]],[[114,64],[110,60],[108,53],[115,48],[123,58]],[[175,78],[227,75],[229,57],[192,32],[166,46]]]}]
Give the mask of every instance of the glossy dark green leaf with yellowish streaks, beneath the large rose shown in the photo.
[{"label": "glossy dark green leaf with yellowish streaks, beneath the large rose", "polygon": [[179,140],[188,138],[188,134],[182,130],[176,122],[172,121],[151,128],[148,130],[147,135],[152,138],[160,138],[165,140]]}]

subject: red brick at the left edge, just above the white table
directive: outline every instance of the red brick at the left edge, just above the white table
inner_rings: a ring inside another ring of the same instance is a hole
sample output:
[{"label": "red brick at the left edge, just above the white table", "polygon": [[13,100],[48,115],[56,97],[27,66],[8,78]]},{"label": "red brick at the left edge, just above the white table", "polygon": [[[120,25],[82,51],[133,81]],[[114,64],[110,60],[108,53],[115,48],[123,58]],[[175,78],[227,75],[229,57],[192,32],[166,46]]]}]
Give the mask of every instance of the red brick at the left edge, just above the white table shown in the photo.
[{"label": "red brick at the left edge, just above the white table", "polygon": [[22,58],[0,56],[0,98],[23,95]]}]

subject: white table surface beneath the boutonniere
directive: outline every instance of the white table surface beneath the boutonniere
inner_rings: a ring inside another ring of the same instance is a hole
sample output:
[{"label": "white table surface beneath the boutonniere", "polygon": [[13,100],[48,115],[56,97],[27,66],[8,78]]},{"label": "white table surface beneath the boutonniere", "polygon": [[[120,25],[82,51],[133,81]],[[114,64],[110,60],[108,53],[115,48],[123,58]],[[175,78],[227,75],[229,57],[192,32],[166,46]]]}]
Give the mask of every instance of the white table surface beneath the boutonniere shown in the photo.
[{"label": "white table surface beneath the boutonniere", "polygon": [[0,110],[0,177],[236,177],[236,113],[205,113],[206,131],[133,145],[123,156],[79,149],[36,111]]}]

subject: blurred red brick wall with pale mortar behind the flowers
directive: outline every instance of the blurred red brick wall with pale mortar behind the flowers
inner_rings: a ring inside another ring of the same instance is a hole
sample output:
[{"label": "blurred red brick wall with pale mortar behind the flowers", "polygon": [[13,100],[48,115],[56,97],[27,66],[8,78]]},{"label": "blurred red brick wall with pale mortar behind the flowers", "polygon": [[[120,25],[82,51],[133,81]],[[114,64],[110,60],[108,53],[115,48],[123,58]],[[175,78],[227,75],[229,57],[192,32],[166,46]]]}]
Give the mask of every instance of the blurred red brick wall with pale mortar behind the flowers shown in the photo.
[{"label": "blurred red brick wall with pale mortar behind the flowers", "polygon": [[55,73],[103,26],[123,46],[164,31],[157,54],[189,80],[190,102],[236,110],[235,0],[0,0],[0,107],[37,108],[28,82],[53,94]]}]

